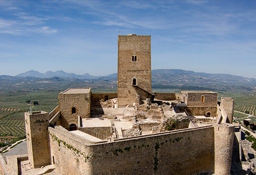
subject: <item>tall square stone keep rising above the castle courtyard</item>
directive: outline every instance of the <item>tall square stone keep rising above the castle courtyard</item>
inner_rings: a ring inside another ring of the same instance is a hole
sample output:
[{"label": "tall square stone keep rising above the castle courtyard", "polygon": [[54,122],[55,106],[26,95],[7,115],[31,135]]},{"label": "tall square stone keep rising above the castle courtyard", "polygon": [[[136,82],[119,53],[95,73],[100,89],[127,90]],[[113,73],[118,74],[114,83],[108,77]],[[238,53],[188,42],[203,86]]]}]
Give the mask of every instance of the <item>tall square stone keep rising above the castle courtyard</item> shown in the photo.
[{"label": "tall square stone keep rising above the castle courtyard", "polygon": [[118,36],[118,106],[151,98],[151,36]]}]

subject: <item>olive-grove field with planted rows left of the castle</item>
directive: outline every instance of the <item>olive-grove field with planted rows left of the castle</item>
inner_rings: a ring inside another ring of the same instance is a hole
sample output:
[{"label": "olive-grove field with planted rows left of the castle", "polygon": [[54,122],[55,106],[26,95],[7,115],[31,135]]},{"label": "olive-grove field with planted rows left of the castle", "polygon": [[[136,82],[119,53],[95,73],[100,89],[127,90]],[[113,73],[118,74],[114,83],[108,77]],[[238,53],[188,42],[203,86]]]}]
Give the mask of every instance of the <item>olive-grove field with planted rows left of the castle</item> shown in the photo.
[{"label": "olive-grove field with planted rows left of the castle", "polygon": [[24,112],[30,110],[29,101],[32,102],[33,111],[50,112],[58,105],[58,92],[18,91],[0,94],[0,143],[3,145],[25,138]]}]

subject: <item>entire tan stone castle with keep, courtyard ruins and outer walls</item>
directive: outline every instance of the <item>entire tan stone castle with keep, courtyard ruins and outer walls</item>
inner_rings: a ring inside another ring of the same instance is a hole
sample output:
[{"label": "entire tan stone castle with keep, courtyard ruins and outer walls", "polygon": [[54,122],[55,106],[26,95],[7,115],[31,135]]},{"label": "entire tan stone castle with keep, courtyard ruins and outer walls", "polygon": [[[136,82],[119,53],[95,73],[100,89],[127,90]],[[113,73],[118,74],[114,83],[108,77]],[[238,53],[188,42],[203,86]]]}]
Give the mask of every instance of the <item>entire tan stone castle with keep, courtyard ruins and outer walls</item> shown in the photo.
[{"label": "entire tan stone castle with keep, courtyard ruins and outer walls", "polygon": [[151,36],[118,36],[117,79],[117,93],[67,89],[53,111],[26,112],[28,155],[2,173],[230,174],[231,98],[152,92]]}]

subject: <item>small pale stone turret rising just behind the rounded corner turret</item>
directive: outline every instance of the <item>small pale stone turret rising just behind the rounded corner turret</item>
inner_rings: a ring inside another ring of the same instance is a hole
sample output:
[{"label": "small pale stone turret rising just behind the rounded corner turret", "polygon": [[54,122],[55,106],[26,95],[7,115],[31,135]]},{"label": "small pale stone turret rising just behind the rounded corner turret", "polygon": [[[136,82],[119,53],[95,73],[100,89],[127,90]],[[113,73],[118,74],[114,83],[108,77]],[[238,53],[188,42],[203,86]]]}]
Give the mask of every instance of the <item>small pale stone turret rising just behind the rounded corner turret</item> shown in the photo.
[{"label": "small pale stone turret rising just behind the rounded corner turret", "polygon": [[227,123],[233,122],[234,100],[230,97],[221,97],[220,107],[225,110],[227,114]]}]

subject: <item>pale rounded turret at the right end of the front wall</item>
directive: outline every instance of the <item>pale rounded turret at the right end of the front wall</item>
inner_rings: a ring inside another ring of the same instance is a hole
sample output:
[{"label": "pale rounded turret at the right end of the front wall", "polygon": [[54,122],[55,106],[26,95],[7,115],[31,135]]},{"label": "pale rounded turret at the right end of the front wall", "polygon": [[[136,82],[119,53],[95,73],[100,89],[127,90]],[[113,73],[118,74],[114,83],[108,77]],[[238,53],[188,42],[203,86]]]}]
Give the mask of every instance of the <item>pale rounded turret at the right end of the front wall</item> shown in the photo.
[{"label": "pale rounded turret at the right end of the front wall", "polygon": [[214,174],[230,174],[233,141],[234,126],[232,124],[214,124]]}]

